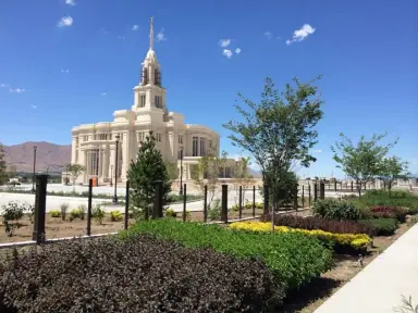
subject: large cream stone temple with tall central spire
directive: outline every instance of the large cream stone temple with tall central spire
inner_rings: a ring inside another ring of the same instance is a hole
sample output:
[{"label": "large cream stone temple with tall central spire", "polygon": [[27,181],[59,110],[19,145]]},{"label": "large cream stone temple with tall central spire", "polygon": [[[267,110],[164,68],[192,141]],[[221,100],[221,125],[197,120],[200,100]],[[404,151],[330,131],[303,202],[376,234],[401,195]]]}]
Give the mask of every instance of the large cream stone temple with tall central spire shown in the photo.
[{"label": "large cream stone temple with tall central spire", "polygon": [[[87,184],[89,178],[108,184],[114,181],[115,176],[118,181],[125,181],[131,160],[136,159],[138,147],[150,130],[162,156],[169,162],[177,162],[179,174],[183,159],[184,180],[192,178],[194,166],[208,151],[220,154],[218,133],[202,125],[184,124],[183,114],[169,112],[161,65],[153,50],[152,18],[149,38],[139,84],[133,89],[132,109],[114,111],[113,122],[85,124],[72,129],[71,162],[86,167],[77,184]],[[233,163],[234,160],[228,162]],[[232,167],[225,166],[220,175],[231,177]]]}]

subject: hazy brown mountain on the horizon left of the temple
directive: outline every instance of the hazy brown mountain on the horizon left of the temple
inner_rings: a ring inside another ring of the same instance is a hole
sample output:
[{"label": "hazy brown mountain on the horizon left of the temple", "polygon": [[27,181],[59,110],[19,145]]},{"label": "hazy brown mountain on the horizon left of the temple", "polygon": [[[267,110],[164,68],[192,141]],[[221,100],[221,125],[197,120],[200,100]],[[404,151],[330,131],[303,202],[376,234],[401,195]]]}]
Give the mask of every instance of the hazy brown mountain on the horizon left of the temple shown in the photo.
[{"label": "hazy brown mountain on the horizon left of the temple", "polygon": [[[8,164],[16,166],[17,172],[32,172],[34,168],[34,146],[36,149],[36,171],[61,172],[71,162],[71,146],[50,142],[27,141],[15,146],[3,146]],[[61,166],[61,167],[60,167]]]}]

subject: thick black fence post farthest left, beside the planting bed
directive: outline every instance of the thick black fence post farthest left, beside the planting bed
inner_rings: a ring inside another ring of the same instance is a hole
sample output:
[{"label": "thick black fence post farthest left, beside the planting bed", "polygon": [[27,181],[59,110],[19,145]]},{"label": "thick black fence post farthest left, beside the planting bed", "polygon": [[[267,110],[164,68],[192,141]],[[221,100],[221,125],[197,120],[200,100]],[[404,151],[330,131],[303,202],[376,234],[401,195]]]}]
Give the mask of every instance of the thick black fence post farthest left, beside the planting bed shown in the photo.
[{"label": "thick black fence post farthest left, beside the planting bed", "polygon": [[35,221],[32,240],[37,245],[45,241],[45,214],[47,212],[47,184],[48,175],[36,175]]}]

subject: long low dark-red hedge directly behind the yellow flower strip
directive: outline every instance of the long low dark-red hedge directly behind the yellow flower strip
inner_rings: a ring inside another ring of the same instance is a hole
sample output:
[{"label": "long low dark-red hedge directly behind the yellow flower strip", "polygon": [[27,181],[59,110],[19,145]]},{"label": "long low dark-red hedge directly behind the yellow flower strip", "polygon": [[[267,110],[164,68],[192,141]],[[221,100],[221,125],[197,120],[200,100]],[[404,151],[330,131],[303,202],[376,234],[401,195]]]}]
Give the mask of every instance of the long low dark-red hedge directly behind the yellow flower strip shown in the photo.
[{"label": "long low dark-red hedge directly behind the yellow flower strip", "polygon": [[[261,222],[271,221],[270,214],[265,214]],[[334,234],[367,234],[373,235],[371,227],[353,221],[323,220],[318,216],[274,215],[274,225],[302,228],[307,230],[321,229]]]}]

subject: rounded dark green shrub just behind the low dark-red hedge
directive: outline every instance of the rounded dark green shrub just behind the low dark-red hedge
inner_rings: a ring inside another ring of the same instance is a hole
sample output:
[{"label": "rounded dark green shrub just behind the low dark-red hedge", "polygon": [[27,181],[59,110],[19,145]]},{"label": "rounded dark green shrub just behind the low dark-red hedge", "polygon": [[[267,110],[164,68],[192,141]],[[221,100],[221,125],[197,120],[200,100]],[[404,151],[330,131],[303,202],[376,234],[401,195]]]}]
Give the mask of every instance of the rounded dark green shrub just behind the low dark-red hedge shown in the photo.
[{"label": "rounded dark green shrub just behind the low dark-red hedge", "polygon": [[353,202],[329,198],[315,201],[312,211],[327,220],[357,221],[361,216],[360,210]]}]

